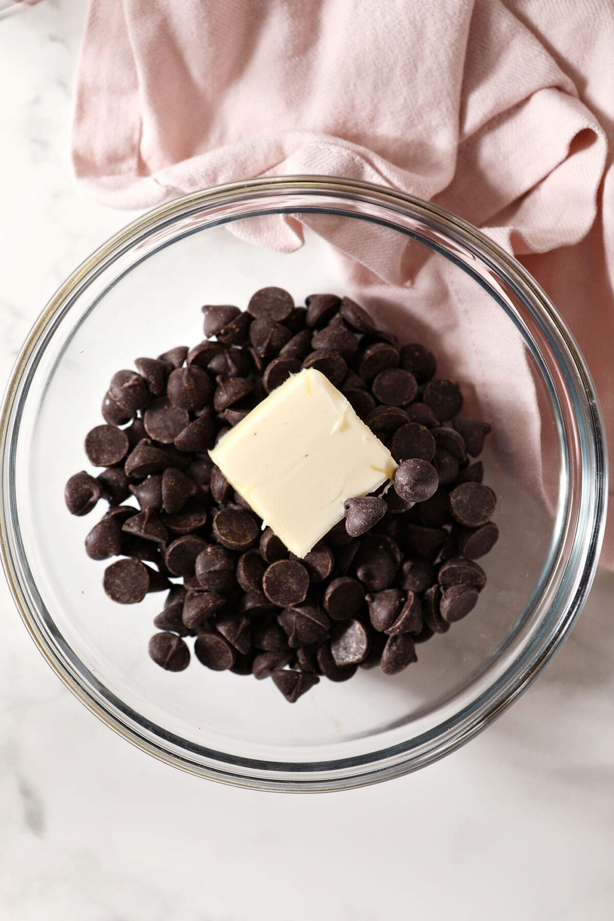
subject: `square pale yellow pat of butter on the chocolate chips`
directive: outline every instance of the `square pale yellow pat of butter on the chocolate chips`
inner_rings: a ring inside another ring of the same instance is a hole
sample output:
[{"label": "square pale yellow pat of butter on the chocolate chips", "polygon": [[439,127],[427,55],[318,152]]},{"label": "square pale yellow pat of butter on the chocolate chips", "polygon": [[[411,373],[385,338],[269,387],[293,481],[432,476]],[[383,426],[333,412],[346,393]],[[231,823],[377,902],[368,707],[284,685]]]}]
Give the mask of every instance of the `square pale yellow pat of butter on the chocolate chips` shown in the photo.
[{"label": "square pale yellow pat of butter on the chocolate chips", "polygon": [[313,368],[272,391],[209,454],[300,557],[344,517],[346,499],[373,492],[397,466],[343,394]]}]

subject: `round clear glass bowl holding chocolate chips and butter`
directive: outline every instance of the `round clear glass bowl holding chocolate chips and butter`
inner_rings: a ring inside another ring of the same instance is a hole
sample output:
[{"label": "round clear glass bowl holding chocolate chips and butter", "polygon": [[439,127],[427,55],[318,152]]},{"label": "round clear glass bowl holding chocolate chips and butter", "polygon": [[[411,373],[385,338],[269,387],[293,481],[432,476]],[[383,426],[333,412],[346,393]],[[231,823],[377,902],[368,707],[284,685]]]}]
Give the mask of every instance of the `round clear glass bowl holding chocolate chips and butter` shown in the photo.
[{"label": "round clear glass bowl holding chocolate chips and butter", "polygon": [[[305,227],[302,249],[271,252],[246,241],[255,221],[265,231],[280,216]],[[228,224],[235,234],[220,227]],[[366,264],[398,251],[411,282],[384,292],[363,273],[358,284],[320,233],[342,248],[361,247]],[[204,302],[245,305],[268,285],[287,288],[297,302],[313,291],[347,293],[401,341],[433,346],[443,369],[461,380],[469,410],[492,421],[483,460],[501,531],[482,561],[488,585],[478,607],[418,647],[417,664],[395,678],[359,670],[351,682],[320,682],[294,706],[272,682],[198,662],[180,674],[158,669],[146,645],[161,596],[128,609],[108,600],[104,564],[82,547],[96,513],[71,518],[63,499],[67,477],[87,463],[83,438],[98,424],[110,375],[137,355],[199,342]],[[454,321],[441,312],[446,297],[464,305]],[[536,459],[531,446],[539,442]],[[52,668],[144,751],[247,787],[355,787],[430,764],[469,740],[525,690],[569,633],[605,519],[595,391],[530,275],[433,204],[322,177],[187,195],[104,244],[29,334],[6,394],[2,449],[6,575]]]}]

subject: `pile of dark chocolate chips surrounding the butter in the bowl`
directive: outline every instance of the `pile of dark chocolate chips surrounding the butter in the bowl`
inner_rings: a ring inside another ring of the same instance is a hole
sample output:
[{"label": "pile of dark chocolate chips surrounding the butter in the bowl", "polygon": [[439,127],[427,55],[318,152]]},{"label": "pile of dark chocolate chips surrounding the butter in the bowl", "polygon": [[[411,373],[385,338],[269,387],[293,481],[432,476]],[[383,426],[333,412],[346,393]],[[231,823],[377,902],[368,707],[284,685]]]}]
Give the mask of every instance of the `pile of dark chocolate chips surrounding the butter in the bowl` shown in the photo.
[{"label": "pile of dark chocolate chips surrounding the butter in the bowl", "polygon": [[[276,287],[248,309],[203,307],[207,338],[190,351],[137,358],[113,375],[105,425],[86,437],[68,509],[109,510],[87,554],[112,556],[108,596],[133,604],[168,590],[149,654],[185,669],[186,637],[204,666],[272,677],[294,703],[319,676],[351,678],[360,666],[393,675],[415,647],[465,617],[486,577],[475,560],[498,537],[495,496],[482,485],[486,423],[461,415],[454,380],[435,359],[394,335],[348,297],[318,294],[305,307]],[[346,503],[346,518],[305,559],[261,530],[208,449],[290,374],[316,367],[391,450],[388,491]],[[138,508],[124,504],[134,497]],[[414,504],[412,504],[414,503]]]}]

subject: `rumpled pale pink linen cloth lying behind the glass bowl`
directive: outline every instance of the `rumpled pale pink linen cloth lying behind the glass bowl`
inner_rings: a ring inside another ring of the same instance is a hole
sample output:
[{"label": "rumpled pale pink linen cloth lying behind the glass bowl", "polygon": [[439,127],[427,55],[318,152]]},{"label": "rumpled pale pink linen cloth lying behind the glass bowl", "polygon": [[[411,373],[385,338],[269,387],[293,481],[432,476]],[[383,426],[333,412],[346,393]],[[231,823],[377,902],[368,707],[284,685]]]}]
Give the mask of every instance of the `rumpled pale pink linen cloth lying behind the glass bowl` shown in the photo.
[{"label": "rumpled pale pink linen cloth lying behind the glass bowl", "polygon": [[[612,444],[613,143],[611,0],[90,0],[73,135],[87,191],[142,208],[221,182],[319,174],[431,199],[545,288],[588,360]],[[288,218],[236,230],[283,251],[302,243]],[[468,326],[458,273],[456,289],[424,274],[399,241],[368,259],[361,239],[333,242],[362,263],[354,279],[371,301],[385,308],[403,286],[441,298],[432,333]],[[514,367],[527,378],[509,351],[504,379]],[[470,379],[466,367],[458,376]],[[536,400],[502,394],[491,408],[546,480]],[[612,527],[602,562],[614,565]]]}]

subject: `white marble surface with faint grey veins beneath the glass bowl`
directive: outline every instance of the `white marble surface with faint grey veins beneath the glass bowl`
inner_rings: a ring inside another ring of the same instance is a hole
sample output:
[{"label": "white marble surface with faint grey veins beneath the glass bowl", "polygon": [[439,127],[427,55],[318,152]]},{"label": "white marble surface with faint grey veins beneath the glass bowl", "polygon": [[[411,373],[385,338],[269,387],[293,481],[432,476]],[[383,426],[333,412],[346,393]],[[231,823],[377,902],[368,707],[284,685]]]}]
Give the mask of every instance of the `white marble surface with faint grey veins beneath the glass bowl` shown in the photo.
[{"label": "white marble surface with faint grey veins beneath the glass bowl", "polygon": [[[68,162],[82,6],[0,22],[0,372],[53,288],[127,220]],[[614,576],[477,740],[391,784],[281,797],[158,764],[36,651],[0,577],[0,917],[590,921],[614,915]]]}]

